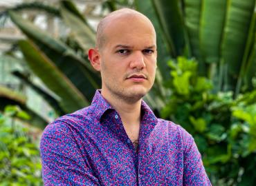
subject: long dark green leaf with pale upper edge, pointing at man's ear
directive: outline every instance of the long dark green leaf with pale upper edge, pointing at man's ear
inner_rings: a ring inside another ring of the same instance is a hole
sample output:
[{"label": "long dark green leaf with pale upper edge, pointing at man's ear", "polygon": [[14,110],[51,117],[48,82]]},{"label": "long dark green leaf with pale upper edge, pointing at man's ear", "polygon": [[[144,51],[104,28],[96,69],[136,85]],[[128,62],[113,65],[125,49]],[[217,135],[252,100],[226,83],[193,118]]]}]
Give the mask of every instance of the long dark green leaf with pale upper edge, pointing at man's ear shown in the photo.
[{"label": "long dark green leaf with pale upper edge, pointing at man's ear", "polygon": [[77,87],[86,99],[91,101],[95,89],[100,87],[100,76],[74,50],[48,33],[37,28],[33,23],[22,19],[15,12],[9,12],[12,21],[48,56],[68,79]]}]

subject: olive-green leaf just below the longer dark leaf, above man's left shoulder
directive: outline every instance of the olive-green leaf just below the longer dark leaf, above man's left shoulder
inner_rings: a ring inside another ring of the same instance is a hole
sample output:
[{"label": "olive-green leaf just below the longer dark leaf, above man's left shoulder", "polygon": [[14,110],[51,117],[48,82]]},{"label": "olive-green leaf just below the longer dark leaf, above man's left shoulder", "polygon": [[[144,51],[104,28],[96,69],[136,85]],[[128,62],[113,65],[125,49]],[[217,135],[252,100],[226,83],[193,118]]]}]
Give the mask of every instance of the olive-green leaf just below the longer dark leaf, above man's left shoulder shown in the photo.
[{"label": "olive-green leaf just below the longer dark leaf, above man's left shoulder", "polygon": [[73,112],[89,105],[75,85],[31,41],[19,41],[30,68],[45,85],[60,96],[60,105],[65,112]]}]

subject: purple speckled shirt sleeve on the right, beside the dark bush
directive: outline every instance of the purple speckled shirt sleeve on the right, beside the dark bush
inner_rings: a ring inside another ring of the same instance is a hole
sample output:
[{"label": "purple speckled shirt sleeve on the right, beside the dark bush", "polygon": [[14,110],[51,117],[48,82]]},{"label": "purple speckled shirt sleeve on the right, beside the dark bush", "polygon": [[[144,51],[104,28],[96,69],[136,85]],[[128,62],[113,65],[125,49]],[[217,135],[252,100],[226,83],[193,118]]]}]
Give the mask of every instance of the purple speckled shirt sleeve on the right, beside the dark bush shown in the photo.
[{"label": "purple speckled shirt sleeve on the right, beside the dark bush", "polygon": [[184,145],[183,185],[211,185],[203,167],[201,154],[194,143],[194,138],[185,130],[181,130]]}]

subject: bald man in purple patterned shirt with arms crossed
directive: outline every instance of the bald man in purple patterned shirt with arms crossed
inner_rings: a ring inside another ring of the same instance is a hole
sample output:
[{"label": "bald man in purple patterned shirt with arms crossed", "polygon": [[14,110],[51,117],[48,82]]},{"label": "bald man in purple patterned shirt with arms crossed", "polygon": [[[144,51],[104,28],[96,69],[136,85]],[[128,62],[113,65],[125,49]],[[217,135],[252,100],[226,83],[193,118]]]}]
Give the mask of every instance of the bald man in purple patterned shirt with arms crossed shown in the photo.
[{"label": "bald man in purple patterned shirt with arms crossed", "polygon": [[98,25],[89,60],[102,76],[91,106],[58,118],[41,141],[45,185],[210,185],[188,132],[142,101],[156,72],[156,32],[130,9]]}]

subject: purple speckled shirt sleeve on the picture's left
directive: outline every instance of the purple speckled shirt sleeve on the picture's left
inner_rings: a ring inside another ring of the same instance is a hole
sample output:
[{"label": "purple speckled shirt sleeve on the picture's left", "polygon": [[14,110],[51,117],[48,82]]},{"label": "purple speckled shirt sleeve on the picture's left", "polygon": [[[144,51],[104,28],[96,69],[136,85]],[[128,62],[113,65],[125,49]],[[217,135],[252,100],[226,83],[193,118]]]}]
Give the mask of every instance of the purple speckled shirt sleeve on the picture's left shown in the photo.
[{"label": "purple speckled shirt sleeve on the picture's left", "polygon": [[46,127],[40,153],[44,185],[100,185],[66,123],[55,121]]}]

